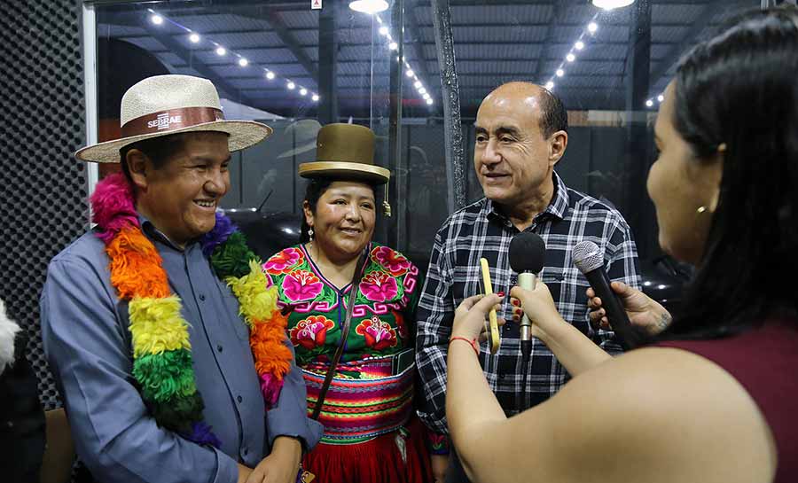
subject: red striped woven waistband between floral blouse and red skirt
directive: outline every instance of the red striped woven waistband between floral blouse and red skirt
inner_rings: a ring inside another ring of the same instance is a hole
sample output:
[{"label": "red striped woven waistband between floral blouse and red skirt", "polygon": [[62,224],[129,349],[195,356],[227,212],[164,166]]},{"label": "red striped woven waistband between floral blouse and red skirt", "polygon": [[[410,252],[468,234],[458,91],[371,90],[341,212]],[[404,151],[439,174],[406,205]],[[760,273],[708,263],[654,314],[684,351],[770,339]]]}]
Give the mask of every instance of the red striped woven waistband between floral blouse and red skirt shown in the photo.
[{"label": "red striped woven waistband between floral blouse and red skirt", "polygon": [[[344,369],[340,367],[339,369]],[[325,425],[322,442],[352,444],[392,432],[413,410],[412,364],[401,374],[378,378],[332,378],[318,422]],[[308,388],[308,414],[316,407],[325,374],[302,370]]]}]

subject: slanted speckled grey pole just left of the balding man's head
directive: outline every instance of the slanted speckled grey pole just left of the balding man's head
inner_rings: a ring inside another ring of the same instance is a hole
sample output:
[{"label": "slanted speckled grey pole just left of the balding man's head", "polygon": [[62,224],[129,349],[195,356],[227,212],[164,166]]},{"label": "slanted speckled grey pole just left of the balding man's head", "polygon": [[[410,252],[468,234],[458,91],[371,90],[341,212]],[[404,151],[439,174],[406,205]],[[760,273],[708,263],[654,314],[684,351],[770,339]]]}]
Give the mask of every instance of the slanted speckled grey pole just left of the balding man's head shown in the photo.
[{"label": "slanted speckled grey pole just left of the balding man's head", "polygon": [[465,145],[460,121],[460,87],[451,35],[449,0],[432,0],[435,47],[441,71],[443,140],[449,213],[465,206]]}]

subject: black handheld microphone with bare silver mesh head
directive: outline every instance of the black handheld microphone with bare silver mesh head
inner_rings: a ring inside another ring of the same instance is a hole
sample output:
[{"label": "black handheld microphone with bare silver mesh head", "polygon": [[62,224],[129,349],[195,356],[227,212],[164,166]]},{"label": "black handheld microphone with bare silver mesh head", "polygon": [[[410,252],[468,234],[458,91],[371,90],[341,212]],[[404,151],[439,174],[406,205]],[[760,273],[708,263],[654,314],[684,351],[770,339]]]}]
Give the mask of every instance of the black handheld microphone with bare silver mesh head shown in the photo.
[{"label": "black handheld microphone with bare silver mesh head", "polygon": [[613,331],[618,334],[622,347],[638,347],[643,341],[642,334],[632,327],[621,300],[610,287],[610,279],[604,269],[604,254],[599,245],[590,240],[581,241],[574,246],[573,257],[574,265],[588,279],[593,292],[601,299],[606,318],[613,326]]}]

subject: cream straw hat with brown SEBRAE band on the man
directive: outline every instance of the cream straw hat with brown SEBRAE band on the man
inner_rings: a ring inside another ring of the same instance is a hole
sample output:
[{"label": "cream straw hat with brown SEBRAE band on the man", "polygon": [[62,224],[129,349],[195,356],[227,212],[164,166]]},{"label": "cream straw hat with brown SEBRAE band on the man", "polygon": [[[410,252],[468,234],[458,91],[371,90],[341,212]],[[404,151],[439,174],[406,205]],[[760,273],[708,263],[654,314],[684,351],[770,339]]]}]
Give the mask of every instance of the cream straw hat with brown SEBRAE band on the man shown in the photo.
[{"label": "cream straw hat with brown SEBRAE band on the man", "polygon": [[260,143],[271,128],[255,121],[225,121],[219,94],[207,79],[191,75],[155,75],[133,85],[121,100],[121,138],[86,146],[75,158],[98,163],[120,161],[121,148],[173,134],[227,133],[230,151]]}]

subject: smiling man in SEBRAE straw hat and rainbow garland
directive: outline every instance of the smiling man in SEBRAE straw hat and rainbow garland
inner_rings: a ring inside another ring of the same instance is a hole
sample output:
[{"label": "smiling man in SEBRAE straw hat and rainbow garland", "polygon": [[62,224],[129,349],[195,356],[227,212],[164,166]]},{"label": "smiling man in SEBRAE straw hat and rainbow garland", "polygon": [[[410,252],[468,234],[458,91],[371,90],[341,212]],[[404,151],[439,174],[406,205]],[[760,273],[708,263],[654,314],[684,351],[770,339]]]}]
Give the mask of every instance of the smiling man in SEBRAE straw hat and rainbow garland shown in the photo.
[{"label": "smiling man in SEBRAE straw hat and rainbow garland", "polygon": [[160,75],[122,98],[121,132],[75,154],[122,173],[41,298],[77,453],[103,482],[294,481],[322,428],[260,260],[216,213],[230,153],[271,129],[224,121],[207,80]]}]

